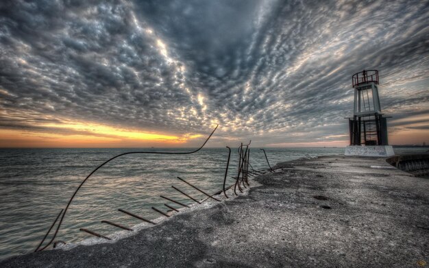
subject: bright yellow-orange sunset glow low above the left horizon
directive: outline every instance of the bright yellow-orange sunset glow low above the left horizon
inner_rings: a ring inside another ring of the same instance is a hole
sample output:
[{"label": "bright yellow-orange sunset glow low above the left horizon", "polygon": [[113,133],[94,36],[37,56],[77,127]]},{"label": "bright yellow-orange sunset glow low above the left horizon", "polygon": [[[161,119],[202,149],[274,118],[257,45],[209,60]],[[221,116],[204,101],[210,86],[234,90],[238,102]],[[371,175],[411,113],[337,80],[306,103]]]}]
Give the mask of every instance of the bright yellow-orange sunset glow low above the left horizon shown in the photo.
[{"label": "bright yellow-orange sunset glow low above the left horizon", "polygon": [[0,147],[175,147],[201,137],[200,134],[173,136],[75,121],[39,126],[49,132],[2,130]]}]

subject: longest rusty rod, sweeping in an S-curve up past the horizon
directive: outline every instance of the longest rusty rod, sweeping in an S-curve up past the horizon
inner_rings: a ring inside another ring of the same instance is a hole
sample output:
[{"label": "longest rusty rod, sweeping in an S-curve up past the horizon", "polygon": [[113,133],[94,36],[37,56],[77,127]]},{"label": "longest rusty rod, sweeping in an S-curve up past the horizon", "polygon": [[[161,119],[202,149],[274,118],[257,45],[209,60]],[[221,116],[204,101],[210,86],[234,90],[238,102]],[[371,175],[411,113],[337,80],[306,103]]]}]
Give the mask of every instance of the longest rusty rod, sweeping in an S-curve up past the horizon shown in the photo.
[{"label": "longest rusty rod, sweeping in an S-curve up past the horizon", "polygon": [[[60,230],[62,221],[64,220],[64,217],[66,215],[67,210],[69,209],[69,206],[71,204],[71,202],[73,201],[73,199],[75,198],[75,195],[77,194],[77,192],[79,191],[79,189],[82,187],[82,185],[84,185],[84,183],[86,182],[86,180],[88,180],[88,178],[90,178],[91,175],[93,175],[93,173],[95,173],[95,171],[97,171],[98,169],[100,169],[101,167],[103,167],[104,165],[106,165],[108,162],[114,160],[115,158],[118,158],[119,156],[125,156],[127,154],[193,154],[196,153],[197,151],[199,151],[202,147],[204,147],[204,145],[206,145],[206,143],[208,142],[208,140],[210,140],[211,136],[213,135],[213,133],[215,133],[215,131],[217,130],[217,127],[219,127],[219,125],[216,125],[215,130],[212,131],[212,133],[208,136],[208,138],[206,139],[206,141],[203,143],[203,145],[201,145],[201,147],[199,147],[198,149],[195,149],[194,151],[177,151],[177,152],[173,152],[173,151],[129,151],[127,153],[123,153],[123,154],[119,154],[117,156],[114,156],[106,161],[104,161],[101,165],[99,165],[98,167],[96,167],[93,171],[91,171],[91,173],[89,173],[88,176],[86,176],[86,178],[79,184],[79,186],[77,186],[75,192],[73,193],[73,195],[70,197],[69,202],[66,205],[66,208],[64,208],[64,213],[62,213],[60,222],[58,223],[58,226],[56,228],[55,233],[52,236],[51,241],[49,241],[49,243],[47,243],[47,245],[45,245],[45,247],[43,247],[42,249],[40,249],[40,251],[42,251],[43,249],[47,248],[49,245],[51,245],[51,243],[53,242],[53,240],[56,238],[58,231]],[[50,232],[50,231],[49,231]],[[49,234],[48,232],[48,234]],[[46,235],[47,236],[47,235]],[[46,239],[45,236],[45,239]],[[43,243],[43,241],[42,241]],[[42,244],[40,243],[40,245]],[[39,248],[39,247],[38,247]],[[38,249],[37,248],[37,249]],[[36,249],[36,250],[37,250]]]}]

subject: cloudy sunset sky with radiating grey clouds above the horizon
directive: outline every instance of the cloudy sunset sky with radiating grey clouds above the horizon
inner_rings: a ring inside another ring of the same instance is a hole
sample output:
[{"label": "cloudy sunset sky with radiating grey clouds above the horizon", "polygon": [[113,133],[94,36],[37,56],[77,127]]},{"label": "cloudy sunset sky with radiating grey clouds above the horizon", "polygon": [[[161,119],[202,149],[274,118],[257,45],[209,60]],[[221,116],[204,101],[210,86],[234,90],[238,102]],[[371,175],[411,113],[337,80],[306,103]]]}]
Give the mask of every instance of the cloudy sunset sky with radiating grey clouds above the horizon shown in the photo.
[{"label": "cloudy sunset sky with radiating grey clouds above the horizon", "polygon": [[330,147],[380,73],[429,144],[429,1],[1,1],[0,147]]}]

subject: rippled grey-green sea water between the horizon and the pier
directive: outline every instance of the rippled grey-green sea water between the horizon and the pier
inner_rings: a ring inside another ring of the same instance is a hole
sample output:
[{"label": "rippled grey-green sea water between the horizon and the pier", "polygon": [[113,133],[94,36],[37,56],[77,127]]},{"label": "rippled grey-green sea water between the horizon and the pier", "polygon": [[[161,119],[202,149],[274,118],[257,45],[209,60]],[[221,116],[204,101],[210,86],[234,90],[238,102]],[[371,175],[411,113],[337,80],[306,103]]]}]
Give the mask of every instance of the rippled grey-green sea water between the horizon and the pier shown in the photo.
[{"label": "rippled grey-green sea water between the horizon and the pier", "polygon": [[[127,151],[192,151],[193,149],[0,149],[0,259],[32,252],[75,188],[95,167]],[[343,148],[266,148],[271,166],[302,158],[343,154]],[[405,149],[402,149],[405,150]],[[184,204],[193,201],[171,186],[202,199],[204,195],[177,180],[177,176],[208,193],[223,185],[228,149],[201,149],[189,155],[132,154],[99,169],[80,188],[64,218],[56,240],[66,243],[90,238],[87,228],[108,236],[120,230],[102,220],[132,227],[140,220],[119,212],[122,208],[147,219],[160,217],[152,206],[167,211],[160,195]],[[227,185],[237,173],[237,148],[232,148]],[[267,168],[263,152],[251,148],[254,169]],[[48,236],[47,241],[50,240]],[[51,248],[51,247],[49,247]]]}]

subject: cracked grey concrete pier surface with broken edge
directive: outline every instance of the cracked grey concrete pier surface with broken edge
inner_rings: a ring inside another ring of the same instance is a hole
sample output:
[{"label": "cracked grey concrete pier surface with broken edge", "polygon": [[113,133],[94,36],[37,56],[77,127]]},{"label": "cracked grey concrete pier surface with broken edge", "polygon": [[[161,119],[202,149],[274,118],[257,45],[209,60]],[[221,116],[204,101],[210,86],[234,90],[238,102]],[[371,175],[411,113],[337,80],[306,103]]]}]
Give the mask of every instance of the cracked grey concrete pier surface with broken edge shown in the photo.
[{"label": "cracked grey concrete pier surface with broken edge", "polygon": [[16,256],[0,267],[429,267],[428,179],[382,158],[277,167],[254,178],[262,185],[248,195],[116,243]]}]

